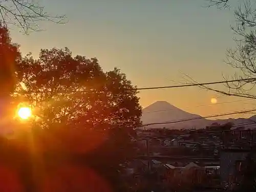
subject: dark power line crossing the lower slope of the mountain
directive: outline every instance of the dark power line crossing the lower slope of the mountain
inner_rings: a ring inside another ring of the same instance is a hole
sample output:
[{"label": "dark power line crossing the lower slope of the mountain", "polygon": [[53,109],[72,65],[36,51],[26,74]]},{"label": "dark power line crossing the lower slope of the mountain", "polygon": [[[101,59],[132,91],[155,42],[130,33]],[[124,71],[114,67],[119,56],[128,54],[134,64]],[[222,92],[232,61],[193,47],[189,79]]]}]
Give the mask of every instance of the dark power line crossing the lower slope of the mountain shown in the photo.
[{"label": "dark power line crossing the lower slope of the mountain", "polygon": [[156,124],[179,123],[179,122],[184,122],[184,121],[191,121],[191,120],[197,120],[197,119],[205,119],[205,118],[211,118],[211,117],[221,117],[221,116],[226,116],[226,115],[248,113],[248,112],[253,112],[253,111],[256,111],[256,109],[246,110],[246,111],[239,111],[239,112],[233,112],[233,113],[218,114],[218,115],[209,115],[209,116],[196,117],[196,118],[191,118],[191,119],[182,119],[182,120],[177,120],[177,121],[167,121],[167,122],[160,122],[160,123],[148,123],[148,124],[144,124],[144,125],[141,125],[141,126],[138,126],[138,127],[143,127],[143,126],[148,126],[148,125],[156,125]]}]

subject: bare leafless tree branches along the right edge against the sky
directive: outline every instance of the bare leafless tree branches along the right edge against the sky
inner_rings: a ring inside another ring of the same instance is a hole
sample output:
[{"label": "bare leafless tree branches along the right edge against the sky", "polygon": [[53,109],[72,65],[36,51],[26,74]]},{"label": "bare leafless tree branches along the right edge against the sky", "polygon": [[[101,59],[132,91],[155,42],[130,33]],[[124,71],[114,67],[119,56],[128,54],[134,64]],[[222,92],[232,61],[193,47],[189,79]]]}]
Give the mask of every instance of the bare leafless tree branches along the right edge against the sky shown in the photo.
[{"label": "bare leafless tree branches along the right edge against the sky", "polygon": [[[220,9],[231,7],[231,0],[207,0],[209,7],[217,6]],[[233,80],[238,82],[226,83],[228,90],[217,90],[207,86],[200,86],[203,89],[218,92],[229,96],[238,96],[255,99],[253,90],[256,83],[256,9],[253,1],[245,0],[234,11],[237,24],[231,29],[236,35],[234,40],[237,43],[236,49],[227,50],[227,65],[234,68]],[[227,80],[226,77],[223,77]],[[248,79],[248,80],[240,80]],[[190,82],[197,81],[190,78]]]}]

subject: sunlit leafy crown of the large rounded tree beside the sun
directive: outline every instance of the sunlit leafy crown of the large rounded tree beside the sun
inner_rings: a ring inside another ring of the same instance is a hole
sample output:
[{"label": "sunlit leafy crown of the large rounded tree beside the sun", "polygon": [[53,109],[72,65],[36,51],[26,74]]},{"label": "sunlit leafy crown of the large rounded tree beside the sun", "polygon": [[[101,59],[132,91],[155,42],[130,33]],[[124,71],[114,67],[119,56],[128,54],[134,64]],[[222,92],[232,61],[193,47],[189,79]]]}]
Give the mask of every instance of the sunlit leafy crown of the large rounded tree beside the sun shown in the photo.
[{"label": "sunlit leafy crown of the large rounded tree beside the sun", "polygon": [[[120,70],[103,72],[96,58],[72,57],[65,50],[41,50],[39,59],[27,55],[18,66],[16,99],[37,110],[39,126],[56,125],[108,130],[140,123],[137,90]],[[28,93],[27,93],[28,92]]]}]

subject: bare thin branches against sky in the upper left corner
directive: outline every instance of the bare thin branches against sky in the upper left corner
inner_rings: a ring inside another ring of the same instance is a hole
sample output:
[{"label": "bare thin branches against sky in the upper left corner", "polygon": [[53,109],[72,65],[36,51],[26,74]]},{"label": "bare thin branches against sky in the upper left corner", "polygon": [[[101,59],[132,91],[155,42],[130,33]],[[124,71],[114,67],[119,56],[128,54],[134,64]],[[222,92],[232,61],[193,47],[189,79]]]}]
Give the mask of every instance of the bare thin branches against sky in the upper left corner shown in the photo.
[{"label": "bare thin branches against sky in the upper left corner", "polygon": [[17,26],[22,32],[40,31],[39,23],[47,20],[54,23],[65,23],[65,15],[50,15],[45,7],[33,0],[3,0],[0,3],[1,22],[5,26]]}]

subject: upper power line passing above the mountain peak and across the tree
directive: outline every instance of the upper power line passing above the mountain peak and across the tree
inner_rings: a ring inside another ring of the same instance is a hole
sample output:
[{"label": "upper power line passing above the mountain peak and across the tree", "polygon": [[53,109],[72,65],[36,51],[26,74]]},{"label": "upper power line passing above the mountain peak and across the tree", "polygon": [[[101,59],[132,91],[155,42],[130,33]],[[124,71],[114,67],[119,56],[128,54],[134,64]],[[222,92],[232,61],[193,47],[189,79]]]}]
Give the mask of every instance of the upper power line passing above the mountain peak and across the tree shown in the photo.
[{"label": "upper power line passing above the mountain peak and across the tree", "polygon": [[[236,79],[236,80],[227,80],[227,81],[214,81],[214,82],[205,82],[205,83],[194,83],[194,84],[182,84],[178,86],[164,86],[164,87],[147,87],[147,88],[134,88],[133,90],[155,90],[155,89],[170,89],[170,88],[184,88],[184,87],[195,87],[195,86],[206,86],[209,84],[221,84],[221,83],[229,83],[229,82],[241,82],[241,81],[250,81],[256,80],[256,78],[247,78],[247,79]],[[14,93],[23,93],[23,94],[30,94],[30,93],[48,93],[51,91],[15,91]],[[94,93],[94,92],[104,92],[103,90],[92,90],[92,91],[53,91],[54,93]]]}]

